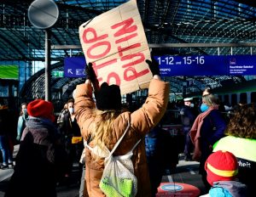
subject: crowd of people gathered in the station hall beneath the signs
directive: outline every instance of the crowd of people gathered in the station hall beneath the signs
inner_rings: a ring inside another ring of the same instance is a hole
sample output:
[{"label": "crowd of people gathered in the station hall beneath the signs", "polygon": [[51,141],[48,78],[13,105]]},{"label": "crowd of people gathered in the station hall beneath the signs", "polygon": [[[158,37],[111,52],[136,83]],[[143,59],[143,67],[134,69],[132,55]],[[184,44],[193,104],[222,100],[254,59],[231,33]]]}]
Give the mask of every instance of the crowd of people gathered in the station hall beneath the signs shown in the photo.
[{"label": "crowd of people gathered in the station hall beneath the signs", "polygon": [[[102,83],[89,64],[84,84],[76,87],[55,120],[54,105],[44,99],[20,105],[16,140],[20,149],[13,162],[13,144],[9,140],[8,106],[0,104],[1,169],[14,167],[5,196],[56,196],[56,183],[68,180],[73,163],[81,163],[79,196],[105,196],[99,188],[104,170],[104,147],[114,144],[131,123],[128,132],[114,151],[125,155],[133,150],[132,163],[137,177],[136,196],[155,196],[166,163],[175,168],[178,152],[164,149],[166,132],[160,127],[165,115],[169,84],[161,81],[158,65],[147,60],[153,78],[148,97],[136,110],[124,108],[119,86]],[[93,98],[93,94],[96,100]],[[256,174],[256,106],[242,104],[229,121],[221,114],[218,97],[209,89],[203,91],[201,104],[184,98],[180,108],[183,130],[184,160],[199,162],[207,196],[255,196],[253,178]],[[170,144],[170,141],[169,141]],[[175,144],[174,141],[171,143]],[[239,146],[237,145],[239,144]],[[91,147],[87,149],[86,147]],[[85,147],[85,149],[84,149]],[[37,182],[35,182],[37,180]],[[150,181],[149,181],[150,180]],[[236,188],[230,190],[230,187]]]}]

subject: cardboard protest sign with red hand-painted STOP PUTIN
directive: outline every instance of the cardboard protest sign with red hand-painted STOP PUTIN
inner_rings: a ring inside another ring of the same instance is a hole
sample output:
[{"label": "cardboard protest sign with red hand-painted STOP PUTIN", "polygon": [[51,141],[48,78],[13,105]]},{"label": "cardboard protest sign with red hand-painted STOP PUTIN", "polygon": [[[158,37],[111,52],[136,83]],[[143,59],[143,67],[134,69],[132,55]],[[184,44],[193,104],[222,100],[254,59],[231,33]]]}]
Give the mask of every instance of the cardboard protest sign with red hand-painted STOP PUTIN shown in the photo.
[{"label": "cardboard protest sign with red hand-painted STOP PUTIN", "polygon": [[80,25],[79,37],[100,84],[119,85],[122,94],[148,87],[152,74],[145,59],[150,52],[136,1]]}]

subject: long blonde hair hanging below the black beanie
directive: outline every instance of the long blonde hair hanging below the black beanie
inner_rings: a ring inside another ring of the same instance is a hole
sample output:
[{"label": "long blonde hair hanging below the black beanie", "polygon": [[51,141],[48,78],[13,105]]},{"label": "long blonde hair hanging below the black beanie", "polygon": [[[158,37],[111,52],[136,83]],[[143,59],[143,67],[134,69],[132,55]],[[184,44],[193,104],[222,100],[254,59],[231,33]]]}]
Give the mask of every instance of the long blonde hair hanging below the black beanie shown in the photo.
[{"label": "long blonde hair hanging below the black beanie", "polygon": [[113,120],[119,115],[116,110],[95,110],[94,132],[92,138],[96,145],[104,148],[110,144],[113,139]]}]

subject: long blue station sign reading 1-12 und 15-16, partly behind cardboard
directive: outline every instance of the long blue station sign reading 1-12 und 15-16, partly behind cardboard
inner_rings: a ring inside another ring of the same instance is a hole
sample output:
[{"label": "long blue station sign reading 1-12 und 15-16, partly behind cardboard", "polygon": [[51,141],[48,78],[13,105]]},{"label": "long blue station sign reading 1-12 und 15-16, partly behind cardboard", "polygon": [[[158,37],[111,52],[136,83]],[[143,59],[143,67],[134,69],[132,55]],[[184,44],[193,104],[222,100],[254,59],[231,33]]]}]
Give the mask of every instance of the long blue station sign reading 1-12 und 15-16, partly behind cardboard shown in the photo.
[{"label": "long blue station sign reading 1-12 und 15-16, partly behind cardboard", "polygon": [[[256,75],[256,55],[154,56],[161,76],[252,76]],[[64,76],[84,77],[84,57],[64,60]]]}]

